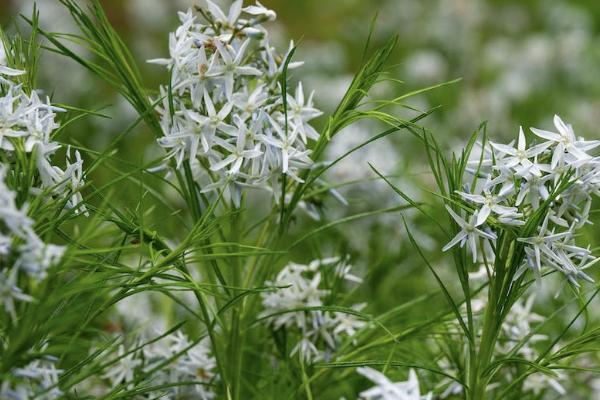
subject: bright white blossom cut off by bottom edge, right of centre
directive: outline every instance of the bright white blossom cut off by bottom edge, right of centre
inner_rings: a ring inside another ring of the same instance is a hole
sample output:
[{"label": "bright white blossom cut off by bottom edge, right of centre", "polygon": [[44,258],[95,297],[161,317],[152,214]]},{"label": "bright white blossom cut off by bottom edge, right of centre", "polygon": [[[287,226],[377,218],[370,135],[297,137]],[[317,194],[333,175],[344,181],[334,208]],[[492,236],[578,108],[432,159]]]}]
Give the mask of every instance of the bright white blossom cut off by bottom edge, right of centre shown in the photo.
[{"label": "bright white blossom cut off by bottom edge, right of centre", "polygon": [[360,393],[365,400],[431,400],[432,393],[421,396],[419,379],[414,369],[408,372],[405,382],[392,382],[381,372],[369,367],[360,367],[359,374],[375,384],[371,389]]}]

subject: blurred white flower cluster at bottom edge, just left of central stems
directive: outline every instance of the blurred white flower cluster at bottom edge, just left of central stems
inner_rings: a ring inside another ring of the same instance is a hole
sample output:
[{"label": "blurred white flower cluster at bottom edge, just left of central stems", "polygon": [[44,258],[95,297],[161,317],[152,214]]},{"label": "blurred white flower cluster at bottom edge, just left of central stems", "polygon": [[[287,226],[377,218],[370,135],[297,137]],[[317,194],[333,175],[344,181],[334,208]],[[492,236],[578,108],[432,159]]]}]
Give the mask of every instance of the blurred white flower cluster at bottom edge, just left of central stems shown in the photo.
[{"label": "blurred white flower cluster at bottom edge, just left of central stems", "polygon": [[[216,361],[210,355],[206,338],[192,342],[181,331],[176,331],[144,346],[140,352],[127,351],[123,345],[116,350],[119,361],[102,376],[113,386],[133,382],[138,373],[157,370],[151,375],[152,385],[164,385],[164,388],[149,398],[209,400],[215,397],[211,384],[218,379],[213,372]],[[177,385],[182,382],[194,384]]]}]

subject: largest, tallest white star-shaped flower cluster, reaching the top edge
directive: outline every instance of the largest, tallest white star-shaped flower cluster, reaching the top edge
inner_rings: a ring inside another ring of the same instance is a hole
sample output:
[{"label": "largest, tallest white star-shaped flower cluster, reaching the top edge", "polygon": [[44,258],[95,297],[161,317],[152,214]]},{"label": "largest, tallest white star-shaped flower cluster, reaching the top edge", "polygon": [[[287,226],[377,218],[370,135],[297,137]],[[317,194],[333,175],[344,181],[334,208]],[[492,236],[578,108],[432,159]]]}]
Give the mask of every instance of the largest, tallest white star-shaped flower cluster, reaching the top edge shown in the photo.
[{"label": "largest, tallest white star-shaped flower cluster, reaching the top edge", "polygon": [[271,46],[261,23],[274,20],[273,11],[236,0],[225,14],[207,4],[204,23],[191,10],[179,14],[170,58],[149,61],[171,71],[169,87],[161,88],[158,144],[177,168],[188,160],[204,190],[227,186],[238,203],[242,187],[278,192],[282,174],[300,180],[299,170],[312,164],[308,140],[319,137],[309,121],[321,112],[301,83],[293,96],[282,93],[286,64],[301,63],[286,63],[290,53]]}]

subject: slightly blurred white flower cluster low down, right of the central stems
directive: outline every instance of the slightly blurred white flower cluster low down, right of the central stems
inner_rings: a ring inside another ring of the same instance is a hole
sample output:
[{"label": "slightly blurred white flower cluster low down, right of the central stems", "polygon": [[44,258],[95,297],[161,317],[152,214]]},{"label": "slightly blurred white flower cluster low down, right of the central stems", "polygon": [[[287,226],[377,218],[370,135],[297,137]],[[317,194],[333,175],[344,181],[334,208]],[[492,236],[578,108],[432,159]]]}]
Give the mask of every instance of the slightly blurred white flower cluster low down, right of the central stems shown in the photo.
[{"label": "slightly blurred white flower cluster low down, right of the central stems", "polygon": [[[266,282],[278,289],[262,294],[262,316],[272,317],[269,321],[274,329],[294,329],[301,335],[292,355],[300,353],[308,361],[324,359],[327,353],[319,350],[321,342],[328,351],[333,351],[343,336],[351,337],[366,325],[352,314],[303,309],[329,305],[331,288],[344,280],[360,283],[361,279],[352,275],[350,269],[347,260],[339,257],[314,260],[308,265],[290,263],[274,281]],[[325,285],[324,275],[332,275],[330,285]],[[357,304],[353,308],[362,306]]]}]

